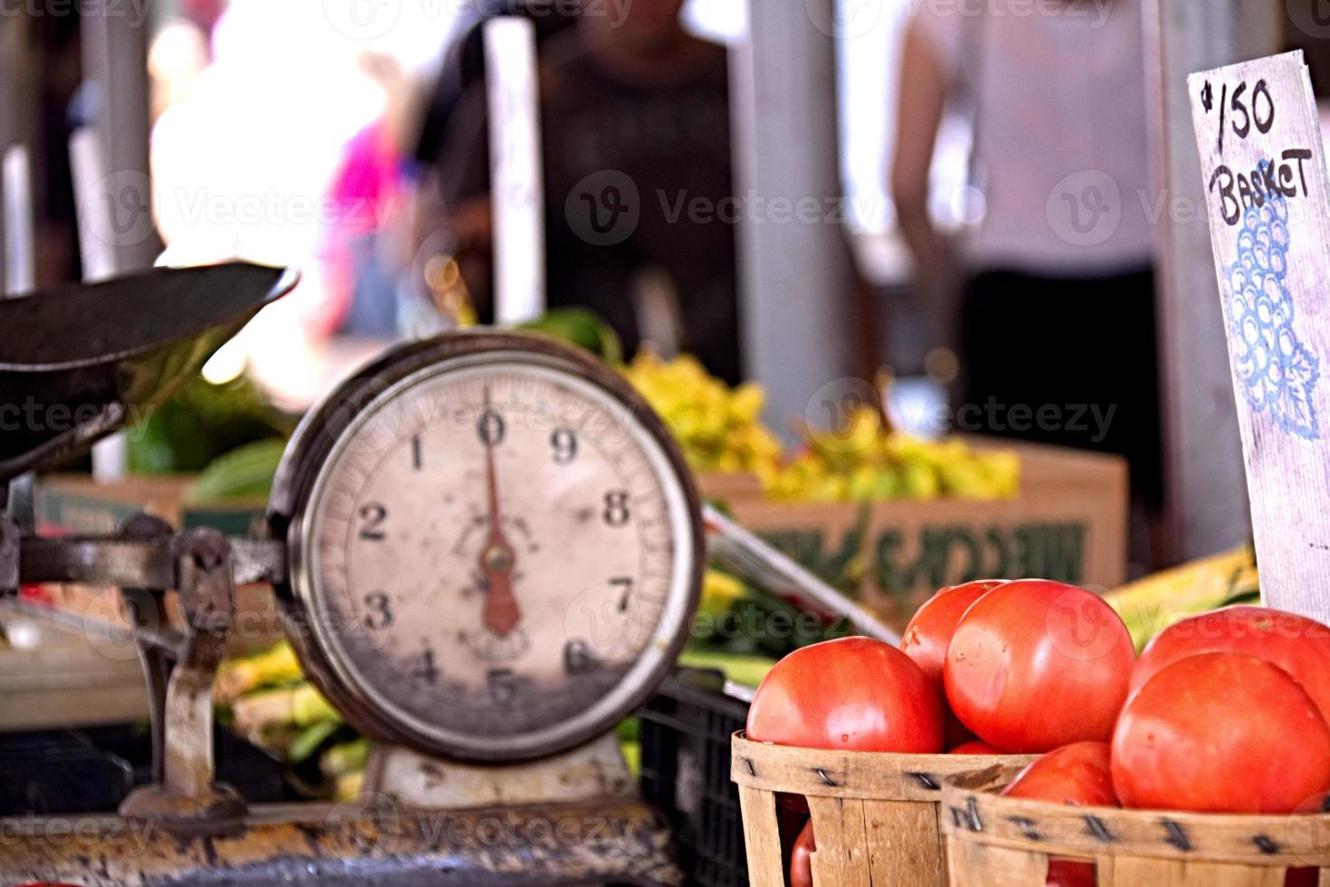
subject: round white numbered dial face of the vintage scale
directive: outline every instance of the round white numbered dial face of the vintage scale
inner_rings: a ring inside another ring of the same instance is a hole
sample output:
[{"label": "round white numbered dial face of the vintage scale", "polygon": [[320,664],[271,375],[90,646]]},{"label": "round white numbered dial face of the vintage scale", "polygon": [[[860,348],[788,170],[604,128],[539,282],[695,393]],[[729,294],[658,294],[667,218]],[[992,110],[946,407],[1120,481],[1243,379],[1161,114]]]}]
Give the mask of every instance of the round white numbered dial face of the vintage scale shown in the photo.
[{"label": "round white numbered dial face of the vintage scale", "polygon": [[694,508],[656,434],[557,360],[416,371],[340,434],[305,507],[297,586],[332,694],[444,754],[591,738],[688,630]]}]

